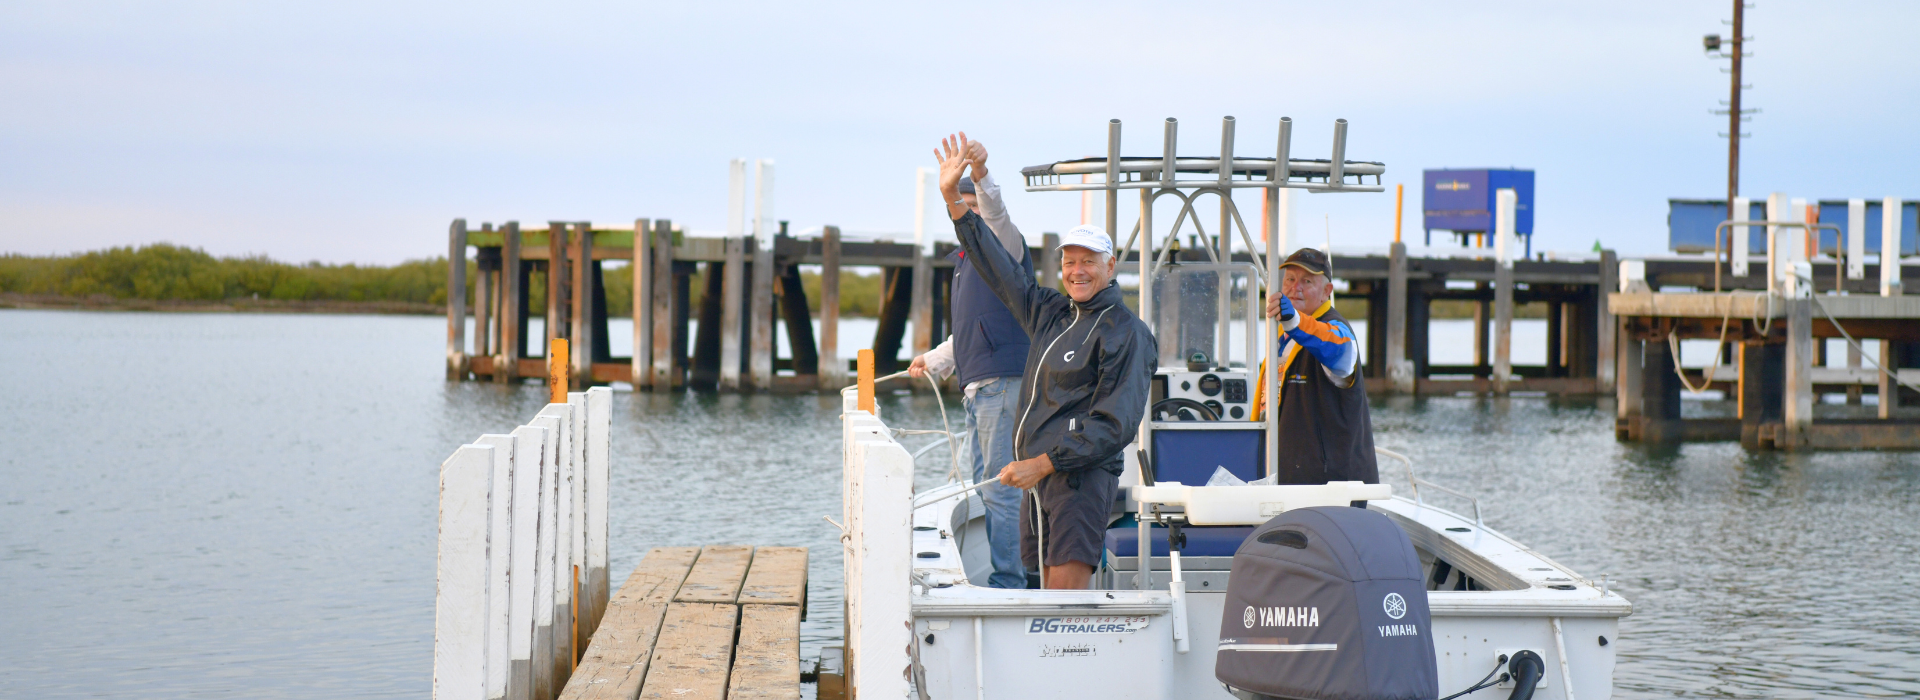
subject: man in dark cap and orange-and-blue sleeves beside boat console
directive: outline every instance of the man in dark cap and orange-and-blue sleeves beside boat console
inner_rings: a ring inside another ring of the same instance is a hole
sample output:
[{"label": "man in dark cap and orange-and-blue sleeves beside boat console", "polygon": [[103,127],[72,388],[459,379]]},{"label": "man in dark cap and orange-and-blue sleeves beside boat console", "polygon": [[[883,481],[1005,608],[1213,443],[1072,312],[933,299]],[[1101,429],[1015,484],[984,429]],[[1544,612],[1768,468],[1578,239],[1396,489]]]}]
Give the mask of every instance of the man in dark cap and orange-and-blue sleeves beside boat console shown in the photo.
[{"label": "man in dark cap and orange-and-blue sleeves beside boat console", "polygon": [[[1359,341],[1354,326],[1332,309],[1327,270],[1327,253],[1302,247],[1281,263],[1281,292],[1267,297],[1267,318],[1279,318],[1281,330],[1273,357],[1281,368],[1281,456],[1273,472],[1277,483],[1380,483]],[[1261,366],[1256,420],[1265,410],[1265,387]]]}]

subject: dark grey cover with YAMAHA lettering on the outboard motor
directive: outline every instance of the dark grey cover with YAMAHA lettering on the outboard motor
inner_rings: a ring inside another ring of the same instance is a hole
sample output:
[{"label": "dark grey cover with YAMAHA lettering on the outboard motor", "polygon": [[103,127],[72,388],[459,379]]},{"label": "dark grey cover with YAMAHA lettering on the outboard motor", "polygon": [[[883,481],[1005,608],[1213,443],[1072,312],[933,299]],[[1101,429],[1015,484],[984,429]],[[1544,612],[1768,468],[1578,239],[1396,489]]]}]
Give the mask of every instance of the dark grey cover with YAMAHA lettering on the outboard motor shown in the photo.
[{"label": "dark grey cover with YAMAHA lettering on the outboard motor", "polygon": [[1256,696],[1440,696],[1421,558],[1352,506],[1288,510],[1233,554],[1213,675]]}]

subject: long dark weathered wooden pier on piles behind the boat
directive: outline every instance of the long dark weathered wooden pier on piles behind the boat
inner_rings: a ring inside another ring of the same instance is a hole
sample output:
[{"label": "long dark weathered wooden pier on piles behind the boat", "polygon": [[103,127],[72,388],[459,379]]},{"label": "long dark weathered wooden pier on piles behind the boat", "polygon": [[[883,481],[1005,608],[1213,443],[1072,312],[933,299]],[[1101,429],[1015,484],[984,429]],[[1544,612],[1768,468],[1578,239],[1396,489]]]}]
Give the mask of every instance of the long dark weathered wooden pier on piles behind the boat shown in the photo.
[{"label": "long dark weathered wooden pier on piles behind the boat", "polygon": [[[636,389],[720,391],[814,391],[849,384],[841,359],[839,272],[877,267],[883,274],[879,318],[870,349],[876,370],[900,368],[900,351],[925,353],[950,332],[947,295],[952,286],[952,244],[931,251],[899,242],[843,242],[837,226],[816,238],[781,232],[772,245],[753,236],[685,236],[670,221],[641,219],[634,228],[595,228],[584,222],[549,222],[522,230],[518,222],[482,224],[470,230],[455,221],[449,236],[447,378],[513,382],[543,378],[545,359],[530,347],[528,284],[545,280],[543,339],[564,338],[574,349],[570,374],[578,384],[630,382]],[[636,240],[639,265],[636,259]],[[1058,282],[1056,234],[1044,234],[1031,255],[1043,284]],[[472,249],[472,299],[467,259]],[[1478,255],[1475,255],[1478,253]],[[1206,261],[1188,245],[1171,253],[1179,261]],[[1139,253],[1127,253],[1131,265]],[[1250,261],[1246,253],[1233,253]],[[632,274],[634,355],[612,357],[607,326],[605,261],[628,261]],[[801,265],[820,270],[820,332],[814,332]],[[1707,263],[1693,263],[1703,272]],[[1402,244],[1388,255],[1332,257],[1334,278],[1344,280],[1342,299],[1365,299],[1369,334],[1363,372],[1373,391],[1398,393],[1505,393],[1544,391],[1584,395],[1613,391],[1613,316],[1605,292],[1615,286],[1611,251],[1578,259],[1513,261],[1505,268],[1488,249],[1457,257],[1407,257]],[[559,270],[557,274],[553,270]],[[1503,272],[1505,270],[1505,272]],[[691,307],[693,280],[701,278],[701,309]],[[925,284],[918,284],[925,280]],[[1428,361],[1432,303],[1475,303],[1475,361]],[[1542,303],[1548,311],[1546,364],[1517,366],[1505,339],[1513,307]],[[776,313],[778,311],[778,313]],[[472,338],[467,338],[472,318]],[[697,324],[693,320],[699,320]],[[908,338],[912,328],[912,338]],[[774,357],[774,334],[783,332],[791,357]],[[1398,359],[1396,362],[1382,359]],[[1505,376],[1505,382],[1496,382]]]}]

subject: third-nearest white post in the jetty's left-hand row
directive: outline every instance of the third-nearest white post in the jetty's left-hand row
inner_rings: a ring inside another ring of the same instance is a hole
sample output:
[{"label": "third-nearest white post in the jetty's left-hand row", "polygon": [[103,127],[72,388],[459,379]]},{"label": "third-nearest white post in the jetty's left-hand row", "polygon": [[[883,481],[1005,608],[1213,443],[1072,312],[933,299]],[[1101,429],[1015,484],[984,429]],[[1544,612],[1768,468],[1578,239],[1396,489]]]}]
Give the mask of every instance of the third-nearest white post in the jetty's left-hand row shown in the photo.
[{"label": "third-nearest white post in the jetty's left-hand row", "polygon": [[520,426],[513,432],[513,545],[507,566],[507,650],[513,665],[507,669],[507,700],[530,700],[534,688],[534,602],[540,598],[540,464],[545,453],[547,430]]}]

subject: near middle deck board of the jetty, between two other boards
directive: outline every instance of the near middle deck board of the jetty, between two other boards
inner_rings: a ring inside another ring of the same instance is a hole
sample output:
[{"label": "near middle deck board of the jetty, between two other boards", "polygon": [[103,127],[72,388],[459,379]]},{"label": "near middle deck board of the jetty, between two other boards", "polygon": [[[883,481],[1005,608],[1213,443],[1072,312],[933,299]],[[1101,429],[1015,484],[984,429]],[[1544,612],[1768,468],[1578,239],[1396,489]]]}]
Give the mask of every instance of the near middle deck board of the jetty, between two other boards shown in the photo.
[{"label": "near middle deck board of the jetty, between two other boards", "polygon": [[647,665],[641,698],[724,700],[733,665],[733,623],[739,606],[674,602]]}]

